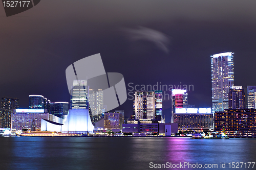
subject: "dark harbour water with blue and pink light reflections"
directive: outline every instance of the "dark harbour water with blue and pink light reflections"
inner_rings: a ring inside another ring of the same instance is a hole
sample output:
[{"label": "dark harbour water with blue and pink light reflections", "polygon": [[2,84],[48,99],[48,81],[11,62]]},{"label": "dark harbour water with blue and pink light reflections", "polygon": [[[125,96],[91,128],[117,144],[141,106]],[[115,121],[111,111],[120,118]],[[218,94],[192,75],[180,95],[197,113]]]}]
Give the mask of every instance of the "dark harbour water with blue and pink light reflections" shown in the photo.
[{"label": "dark harbour water with blue and pink light reflections", "polygon": [[160,169],[166,162],[234,169],[229,162],[256,162],[252,138],[0,137],[0,146],[1,169]]}]

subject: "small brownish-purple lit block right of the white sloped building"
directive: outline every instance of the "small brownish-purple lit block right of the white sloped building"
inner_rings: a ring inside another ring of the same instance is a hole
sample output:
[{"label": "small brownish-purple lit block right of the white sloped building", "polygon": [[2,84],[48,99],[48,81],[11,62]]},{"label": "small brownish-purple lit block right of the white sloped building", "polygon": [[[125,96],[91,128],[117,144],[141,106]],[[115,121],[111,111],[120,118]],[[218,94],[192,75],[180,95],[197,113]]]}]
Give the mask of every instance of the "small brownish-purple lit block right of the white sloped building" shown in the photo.
[{"label": "small brownish-purple lit block right of the white sloped building", "polygon": [[104,128],[122,130],[123,116],[121,113],[105,113]]}]

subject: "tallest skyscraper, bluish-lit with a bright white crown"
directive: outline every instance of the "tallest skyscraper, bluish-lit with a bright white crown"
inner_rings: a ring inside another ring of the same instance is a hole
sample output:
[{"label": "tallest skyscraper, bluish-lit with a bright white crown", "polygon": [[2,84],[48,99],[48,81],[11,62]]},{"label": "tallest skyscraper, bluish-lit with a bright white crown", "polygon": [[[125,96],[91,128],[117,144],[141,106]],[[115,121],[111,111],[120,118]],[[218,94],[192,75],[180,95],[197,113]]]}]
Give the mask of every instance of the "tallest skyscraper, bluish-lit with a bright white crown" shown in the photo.
[{"label": "tallest skyscraper, bluish-lit with a bright white crown", "polygon": [[234,85],[233,53],[220,53],[211,57],[212,112],[228,109],[228,93]]}]

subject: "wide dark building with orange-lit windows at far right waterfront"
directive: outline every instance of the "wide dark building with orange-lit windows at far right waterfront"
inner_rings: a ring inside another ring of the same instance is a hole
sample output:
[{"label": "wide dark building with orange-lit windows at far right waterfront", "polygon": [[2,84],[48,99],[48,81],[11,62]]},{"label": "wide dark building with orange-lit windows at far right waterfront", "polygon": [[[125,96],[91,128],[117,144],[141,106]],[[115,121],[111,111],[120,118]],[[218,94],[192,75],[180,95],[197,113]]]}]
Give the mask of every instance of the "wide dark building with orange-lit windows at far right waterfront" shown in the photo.
[{"label": "wide dark building with orange-lit windows at far right waterfront", "polygon": [[256,109],[227,109],[215,113],[215,130],[227,134],[256,132]]}]

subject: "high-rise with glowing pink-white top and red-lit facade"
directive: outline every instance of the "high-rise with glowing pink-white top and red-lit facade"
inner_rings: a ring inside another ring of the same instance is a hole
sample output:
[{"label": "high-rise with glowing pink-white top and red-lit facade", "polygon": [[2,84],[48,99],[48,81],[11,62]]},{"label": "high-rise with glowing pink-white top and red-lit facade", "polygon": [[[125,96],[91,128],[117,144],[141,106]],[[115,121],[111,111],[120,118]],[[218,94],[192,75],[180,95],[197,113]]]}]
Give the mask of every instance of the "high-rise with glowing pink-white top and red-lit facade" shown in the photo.
[{"label": "high-rise with glowing pink-white top and red-lit facade", "polygon": [[184,108],[187,106],[187,90],[172,89],[172,116],[171,123],[174,123],[174,113],[177,108]]}]

